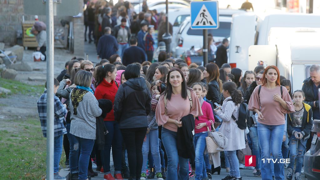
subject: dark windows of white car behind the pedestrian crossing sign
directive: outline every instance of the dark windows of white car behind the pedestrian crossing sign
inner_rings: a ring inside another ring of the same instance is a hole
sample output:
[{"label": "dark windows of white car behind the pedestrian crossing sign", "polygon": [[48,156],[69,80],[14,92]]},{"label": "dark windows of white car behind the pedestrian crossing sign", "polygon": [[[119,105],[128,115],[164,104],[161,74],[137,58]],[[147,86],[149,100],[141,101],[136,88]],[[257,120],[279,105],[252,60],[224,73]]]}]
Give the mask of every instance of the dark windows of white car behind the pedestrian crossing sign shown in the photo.
[{"label": "dark windows of white car behind the pedestrian crossing sign", "polygon": [[[208,34],[211,33],[216,37],[230,37],[231,22],[220,22],[218,29],[208,29]],[[202,29],[189,29],[188,35],[203,36]]]}]

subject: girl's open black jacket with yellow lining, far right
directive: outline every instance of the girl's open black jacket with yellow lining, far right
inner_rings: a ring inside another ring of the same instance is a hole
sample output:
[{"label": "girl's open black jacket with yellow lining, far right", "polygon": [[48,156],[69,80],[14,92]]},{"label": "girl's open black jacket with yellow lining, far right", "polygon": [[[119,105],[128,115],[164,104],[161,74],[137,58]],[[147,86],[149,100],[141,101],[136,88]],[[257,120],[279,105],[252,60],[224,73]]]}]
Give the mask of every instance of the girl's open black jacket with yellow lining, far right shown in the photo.
[{"label": "girl's open black jacket with yellow lining, far right", "polygon": [[[311,110],[311,106],[308,105],[307,103],[303,103],[304,106],[304,112],[303,112],[303,116],[302,116],[302,131],[301,133],[303,134],[303,139],[307,140],[310,137],[310,131],[312,128],[312,121],[313,121],[313,117],[312,117],[312,110]],[[296,132],[293,129],[292,126],[292,119],[293,119],[293,113],[289,113],[287,114],[287,132],[289,137],[291,137],[292,135],[294,135],[294,132]]]}]

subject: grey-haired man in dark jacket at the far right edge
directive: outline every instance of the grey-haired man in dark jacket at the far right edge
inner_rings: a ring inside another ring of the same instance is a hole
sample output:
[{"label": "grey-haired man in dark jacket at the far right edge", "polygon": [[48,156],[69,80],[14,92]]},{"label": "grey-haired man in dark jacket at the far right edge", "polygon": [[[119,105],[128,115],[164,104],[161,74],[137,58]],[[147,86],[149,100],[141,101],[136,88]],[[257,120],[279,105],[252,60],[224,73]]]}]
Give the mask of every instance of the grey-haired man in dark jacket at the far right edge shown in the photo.
[{"label": "grey-haired man in dark jacket at the far right edge", "polygon": [[[310,78],[305,80],[305,83],[302,86],[302,91],[305,95],[304,102],[309,104],[312,108],[313,119],[320,119],[320,110],[319,110],[319,97],[318,89],[320,88],[320,66],[312,65],[310,67]],[[311,146],[312,135],[310,135],[309,140],[306,144],[306,150],[308,151]]]}]

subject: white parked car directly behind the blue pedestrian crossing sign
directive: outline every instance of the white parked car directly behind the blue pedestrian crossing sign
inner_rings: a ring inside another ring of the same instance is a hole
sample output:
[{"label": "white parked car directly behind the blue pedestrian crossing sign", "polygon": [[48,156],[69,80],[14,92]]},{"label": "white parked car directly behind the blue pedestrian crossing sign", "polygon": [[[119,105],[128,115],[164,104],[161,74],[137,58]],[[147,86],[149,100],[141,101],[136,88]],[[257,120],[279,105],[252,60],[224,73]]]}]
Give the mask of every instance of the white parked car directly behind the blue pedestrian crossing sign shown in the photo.
[{"label": "white parked car directly behind the blue pedestrian crossing sign", "polygon": [[[208,29],[208,34],[213,35],[215,43],[221,42],[224,38],[230,37],[231,29],[230,17],[219,17],[219,28]],[[175,57],[179,57],[184,51],[191,49],[193,46],[195,49],[202,48],[203,46],[203,30],[202,29],[191,29],[191,18],[187,17],[180,26],[179,32],[175,37],[174,41],[176,46],[172,48]]]}]

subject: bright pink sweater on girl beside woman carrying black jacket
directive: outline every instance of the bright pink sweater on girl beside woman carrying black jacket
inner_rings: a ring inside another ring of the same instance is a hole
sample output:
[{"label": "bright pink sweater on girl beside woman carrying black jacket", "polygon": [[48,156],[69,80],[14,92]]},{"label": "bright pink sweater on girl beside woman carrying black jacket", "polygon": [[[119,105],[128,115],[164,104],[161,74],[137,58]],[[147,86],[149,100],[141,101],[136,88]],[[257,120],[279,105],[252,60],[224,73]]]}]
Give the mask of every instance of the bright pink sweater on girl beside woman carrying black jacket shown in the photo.
[{"label": "bright pink sweater on girl beside woman carrying black jacket", "polygon": [[202,133],[204,131],[208,131],[207,127],[209,127],[211,131],[211,125],[212,123],[214,123],[214,117],[213,117],[211,105],[208,102],[203,102],[201,109],[202,109],[203,115],[198,117],[199,120],[196,119],[195,125],[197,126],[198,124],[204,123],[204,122],[207,125],[205,127],[202,127],[201,129],[197,129],[195,127],[195,133]]}]

